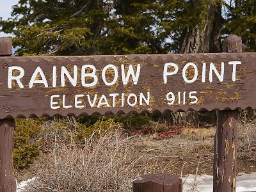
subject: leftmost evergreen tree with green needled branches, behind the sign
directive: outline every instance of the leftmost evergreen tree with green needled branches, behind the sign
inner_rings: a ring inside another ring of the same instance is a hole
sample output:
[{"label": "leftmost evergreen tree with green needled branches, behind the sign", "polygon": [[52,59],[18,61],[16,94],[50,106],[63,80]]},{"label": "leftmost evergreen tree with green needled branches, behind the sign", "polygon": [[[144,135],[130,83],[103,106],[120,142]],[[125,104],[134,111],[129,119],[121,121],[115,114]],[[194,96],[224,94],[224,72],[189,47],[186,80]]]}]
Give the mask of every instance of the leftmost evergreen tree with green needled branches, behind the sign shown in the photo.
[{"label": "leftmost evergreen tree with green needled branches, behind the sign", "polygon": [[24,54],[97,54],[108,13],[102,0],[20,0],[12,19],[1,20]]}]

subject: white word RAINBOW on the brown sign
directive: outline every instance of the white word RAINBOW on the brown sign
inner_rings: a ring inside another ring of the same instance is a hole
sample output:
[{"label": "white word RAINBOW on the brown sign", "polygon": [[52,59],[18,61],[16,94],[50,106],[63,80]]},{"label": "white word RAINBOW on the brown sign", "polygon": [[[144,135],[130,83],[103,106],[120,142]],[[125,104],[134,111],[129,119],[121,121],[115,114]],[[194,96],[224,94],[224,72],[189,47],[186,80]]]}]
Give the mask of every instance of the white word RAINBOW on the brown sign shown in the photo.
[{"label": "white word RAINBOW on the brown sign", "polygon": [[[113,70],[114,73],[109,73],[110,75],[114,74],[113,80],[108,81],[106,74],[108,70]],[[88,72],[90,70],[90,72]],[[140,77],[140,63],[138,63],[136,67],[136,73],[134,72],[134,68],[132,65],[129,65],[128,71],[125,74],[125,67],[122,64],[121,65],[121,76],[122,76],[122,82],[123,84],[127,84],[129,82],[129,79],[132,80],[133,84],[137,84],[139,81]],[[15,71],[15,73],[14,73]],[[19,71],[17,73],[17,71]],[[95,86],[98,81],[99,77],[96,74],[97,70],[94,65],[83,65],[81,67],[81,85],[84,87],[92,87]],[[13,74],[14,73],[14,74]],[[73,73],[73,74],[72,74]],[[66,86],[66,80],[68,80],[72,86],[77,86],[77,65],[73,66],[73,72],[68,71],[68,69],[65,66],[61,66],[61,72],[60,72],[60,79],[58,79],[58,74],[57,74],[57,67],[53,66],[52,67],[52,74],[51,74],[51,79],[52,79],[52,87],[58,86],[58,80],[61,83],[61,86]],[[19,74],[19,75],[17,75]],[[20,88],[24,88],[24,84],[22,84],[22,77],[25,75],[25,70],[22,67],[19,66],[12,66],[8,68],[8,88],[12,88],[12,83],[16,81],[16,83],[19,85]],[[38,76],[40,76],[41,79],[38,79]],[[102,80],[104,84],[107,86],[111,86],[116,83],[118,80],[118,68],[113,65],[113,64],[108,64],[106,65],[101,74]],[[131,77],[131,78],[130,78]],[[88,79],[93,79],[92,82],[88,83]],[[34,84],[44,84],[44,87],[47,88],[49,86],[47,82],[47,78],[45,77],[44,71],[42,70],[41,67],[36,67],[35,71],[33,72],[33,75],[31,76],[31,79],[29,81],[29,88],[33,88]]]}]

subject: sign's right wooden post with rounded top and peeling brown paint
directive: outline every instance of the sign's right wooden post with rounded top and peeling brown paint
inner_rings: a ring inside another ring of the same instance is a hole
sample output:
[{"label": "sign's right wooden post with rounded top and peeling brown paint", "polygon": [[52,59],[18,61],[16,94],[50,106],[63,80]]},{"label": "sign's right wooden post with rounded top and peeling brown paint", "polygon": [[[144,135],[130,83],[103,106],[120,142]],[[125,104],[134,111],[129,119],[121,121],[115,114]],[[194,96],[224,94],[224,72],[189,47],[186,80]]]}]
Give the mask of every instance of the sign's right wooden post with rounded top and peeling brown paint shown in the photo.
[{"label": "sign's right wooden post with rounded top and peeling brown paint", "polygon": [[[223,52],[242,52],[242,40],[228,35]],[[236,191],[236,158],[238,110],[217,111],[217,129],[214,138],[213,191]]]}]

